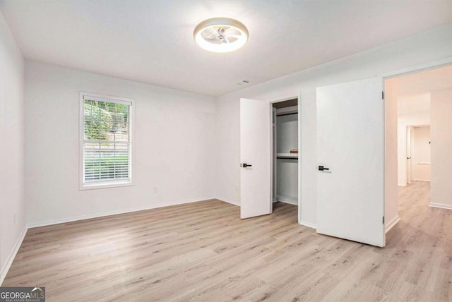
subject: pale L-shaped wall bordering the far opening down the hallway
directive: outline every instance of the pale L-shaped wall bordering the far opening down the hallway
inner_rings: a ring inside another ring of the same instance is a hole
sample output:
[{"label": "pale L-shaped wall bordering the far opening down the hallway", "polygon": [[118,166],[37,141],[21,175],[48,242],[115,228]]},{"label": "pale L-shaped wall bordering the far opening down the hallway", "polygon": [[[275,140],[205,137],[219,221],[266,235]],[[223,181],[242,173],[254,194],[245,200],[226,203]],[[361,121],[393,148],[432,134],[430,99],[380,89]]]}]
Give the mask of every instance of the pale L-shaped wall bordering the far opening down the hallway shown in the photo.
[{"label": "pale L-shaped wall bordering the far opening down the hallway", "polygon": [[407,127],[430,124],[430,114],[402,114],[397,121],[398,186],[406,186],[407,179]]}]

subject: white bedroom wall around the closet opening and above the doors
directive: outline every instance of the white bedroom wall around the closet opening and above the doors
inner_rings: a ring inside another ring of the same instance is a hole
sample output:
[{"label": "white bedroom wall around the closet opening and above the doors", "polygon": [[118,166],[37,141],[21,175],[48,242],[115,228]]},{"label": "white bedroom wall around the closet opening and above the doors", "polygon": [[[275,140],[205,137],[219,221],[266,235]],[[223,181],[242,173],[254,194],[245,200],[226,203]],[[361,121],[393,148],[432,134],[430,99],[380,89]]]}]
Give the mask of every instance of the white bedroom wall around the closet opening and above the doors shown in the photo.
[{"label": "white bedroom wall around the closet opening and above the doors", "polygon": [[[244,90],[218,97],[218,179],[217,196],[239,203],[239,98],[266,102],[297,97],[302,114],[301,220],[316,224],[316,87],[372,78],[418,64],[452,56],[452,24],[423,32],[405,40],[361,52],[338,61],[293,73]],[[252,80],[252,79],[251,79]],[[379,147],[379,146],[376,146]],[[381,146],[383,147],[383,146]]]}]

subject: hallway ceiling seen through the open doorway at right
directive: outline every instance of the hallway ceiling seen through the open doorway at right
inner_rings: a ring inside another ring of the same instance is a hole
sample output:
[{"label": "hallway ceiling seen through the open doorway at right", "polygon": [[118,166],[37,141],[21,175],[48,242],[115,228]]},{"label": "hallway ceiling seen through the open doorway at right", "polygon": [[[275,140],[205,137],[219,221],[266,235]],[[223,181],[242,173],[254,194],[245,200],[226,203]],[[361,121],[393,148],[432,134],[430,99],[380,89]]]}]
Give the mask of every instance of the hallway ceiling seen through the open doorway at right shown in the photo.
[{"label": "hallway ceiling seen through the open doorway at right", "polygon": [[430,93],[452,89],[452,66],[403,75],[396,81],[398,114],[429,114]]}]

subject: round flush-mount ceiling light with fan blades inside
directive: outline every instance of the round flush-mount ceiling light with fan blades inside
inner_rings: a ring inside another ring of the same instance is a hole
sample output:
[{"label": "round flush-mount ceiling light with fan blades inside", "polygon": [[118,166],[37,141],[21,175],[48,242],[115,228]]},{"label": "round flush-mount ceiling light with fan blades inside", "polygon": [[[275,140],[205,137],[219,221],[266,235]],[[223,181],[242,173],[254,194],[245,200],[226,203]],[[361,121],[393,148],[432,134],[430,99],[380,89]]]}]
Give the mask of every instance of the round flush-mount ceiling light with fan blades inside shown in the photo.
[{"label": "round flush-mount ceiling light with fan blades inside", "polygon": [[231,18],[211,18],[199,23],[193,32],[196,43],[209,52],[232,52],[248,41],[243,23]]}]

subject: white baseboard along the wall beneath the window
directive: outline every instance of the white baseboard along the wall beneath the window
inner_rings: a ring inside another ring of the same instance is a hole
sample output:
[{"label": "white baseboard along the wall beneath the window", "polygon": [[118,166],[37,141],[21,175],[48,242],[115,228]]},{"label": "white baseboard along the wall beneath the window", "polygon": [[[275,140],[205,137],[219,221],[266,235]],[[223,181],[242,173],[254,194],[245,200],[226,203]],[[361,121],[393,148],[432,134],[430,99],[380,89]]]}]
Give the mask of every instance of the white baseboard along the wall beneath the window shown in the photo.
[{"label": "white baseboard along the wall beneath the window", "polygon": [[197,203],[200,201],[206,201],[206,200],[211,200],[211,199],[215,199],[215,198],[196,198],[196,199],[189,199],[189,200],[178,200],[178,201],[174,201],[171,203],[159,203],[156,205],[146,205],[144,207],[132,207],[129,209],[124,209],[124,210],[114,210],[114,211],[100,212],[100,213],[95,213],[95,214],[90,214],[90,215],[66,217],[66,218],[61,218],[61,219],[48,220],[45,222],[32,222],[32,223],[28,224],[28,228],[32,229],[35,227],[45,227],[45,226],[49,226],[52,224],[63,224],[66,222],[76,222],[78,220],[85,220],[85,219],[92,219],[92,218],[105,217],[105,216],[111,216],[111,215],[125,214],[125,213],[138,212],[138,211],[143,211],[143,210],[151,210],[151,209],[155,209],[157,207],[170,207],[172,205],[184,205],[185,203]]}]

